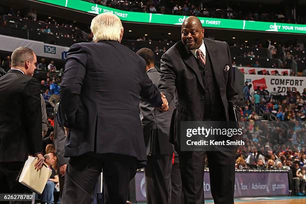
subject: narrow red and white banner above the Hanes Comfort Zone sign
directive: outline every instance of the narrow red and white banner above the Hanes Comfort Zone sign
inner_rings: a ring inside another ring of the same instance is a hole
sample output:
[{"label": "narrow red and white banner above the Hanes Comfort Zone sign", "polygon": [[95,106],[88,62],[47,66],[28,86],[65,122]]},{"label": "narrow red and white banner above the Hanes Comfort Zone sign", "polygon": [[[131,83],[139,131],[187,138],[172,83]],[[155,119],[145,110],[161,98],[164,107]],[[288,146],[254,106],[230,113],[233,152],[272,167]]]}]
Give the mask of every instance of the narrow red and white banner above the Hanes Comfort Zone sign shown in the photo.
[{"label": "narrow red and white banner above the Hanes Comfort Zone sign", "polygon": [[284,68],[256,68],[256,67],[245,67],[245,66],[238,66],[237,69],[239,69],[242,73],[246,74],[265,74],[267,71],[269,74],[275,74],[275,71],[277,71],[280,75],[290,75],[291,69],[284,69]]}]

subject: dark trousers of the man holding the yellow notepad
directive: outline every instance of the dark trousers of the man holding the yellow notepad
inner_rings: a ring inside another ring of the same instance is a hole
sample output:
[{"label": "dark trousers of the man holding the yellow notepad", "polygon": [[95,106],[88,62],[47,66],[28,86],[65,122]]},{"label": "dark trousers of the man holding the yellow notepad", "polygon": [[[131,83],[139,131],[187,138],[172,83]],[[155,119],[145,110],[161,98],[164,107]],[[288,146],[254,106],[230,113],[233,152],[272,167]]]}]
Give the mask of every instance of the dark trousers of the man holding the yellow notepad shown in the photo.
[{"label": "dark trousers of the man holding the yellow notepad", "polygon": [[[16,181],[23,167],[23,161],[0,162],[0,193],[32,193],[27,187]],[[0,201],[0,203],[9,203]],[[31,201],[13,201],[12,203],[31,203]]]}]

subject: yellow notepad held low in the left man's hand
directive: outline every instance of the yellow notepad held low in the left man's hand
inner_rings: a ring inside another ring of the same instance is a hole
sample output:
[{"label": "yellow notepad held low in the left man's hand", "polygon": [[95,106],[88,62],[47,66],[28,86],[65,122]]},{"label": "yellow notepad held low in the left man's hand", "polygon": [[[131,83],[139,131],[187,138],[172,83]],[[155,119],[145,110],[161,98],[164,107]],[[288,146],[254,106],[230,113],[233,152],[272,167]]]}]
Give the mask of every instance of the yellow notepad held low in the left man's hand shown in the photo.
[{"label": "yellow notepad held low in the left man's hand", "polygon": [[36,161],[37,157],[28,156],[21,171],[19,182],[41,194],[47,180],[51,176],[52,170],[44,164],[42,168],[37,171],[34,166]]}]

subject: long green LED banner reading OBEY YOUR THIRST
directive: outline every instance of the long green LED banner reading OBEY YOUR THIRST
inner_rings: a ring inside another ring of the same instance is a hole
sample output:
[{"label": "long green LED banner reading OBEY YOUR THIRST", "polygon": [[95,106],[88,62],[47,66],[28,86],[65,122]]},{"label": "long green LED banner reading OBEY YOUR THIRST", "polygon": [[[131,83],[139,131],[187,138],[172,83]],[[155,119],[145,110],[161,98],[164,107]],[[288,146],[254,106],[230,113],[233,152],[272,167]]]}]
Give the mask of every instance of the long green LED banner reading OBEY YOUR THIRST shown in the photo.
[{"label": "long green LED banner reading OBEY YOUR THIRST", "polygon": [[[188,17],[184,15],[131,12],[95,3],[90,3],[83,0],[38,0],[38,1],[60,5],[75,10],[80,10],[94,14],[111,12],[117,15],[121,20],[131,21],[131,22],[181,25],[184,19]],[[304,24],[262,22],[262,21],[252,21],[252,20],[234,20],[234,19],[210,18],[210,17],[199,17],[199,19],[204,27],[241,29],[241,30],[245,29],[245,30],[271,31],[271,32],[306,33],[306,25]]]}]

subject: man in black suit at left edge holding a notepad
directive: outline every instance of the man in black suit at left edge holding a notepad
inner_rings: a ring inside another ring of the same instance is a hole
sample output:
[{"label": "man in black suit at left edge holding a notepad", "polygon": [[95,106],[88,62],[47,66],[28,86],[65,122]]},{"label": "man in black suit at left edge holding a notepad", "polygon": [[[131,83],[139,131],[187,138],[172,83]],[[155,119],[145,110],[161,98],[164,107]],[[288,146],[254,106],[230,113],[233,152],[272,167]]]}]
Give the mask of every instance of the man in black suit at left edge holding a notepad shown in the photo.
[{"label": "man in black suit at left edge holding a notepad", "polygon": [[11,69],[0,78],[0,193],[22,193],[28,189],[15,181],[28,154],[43,164],[40,86],[33,78],[36,55],[19,47],[11,54]]}]

